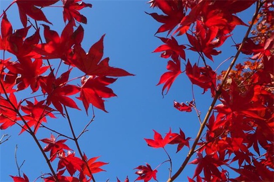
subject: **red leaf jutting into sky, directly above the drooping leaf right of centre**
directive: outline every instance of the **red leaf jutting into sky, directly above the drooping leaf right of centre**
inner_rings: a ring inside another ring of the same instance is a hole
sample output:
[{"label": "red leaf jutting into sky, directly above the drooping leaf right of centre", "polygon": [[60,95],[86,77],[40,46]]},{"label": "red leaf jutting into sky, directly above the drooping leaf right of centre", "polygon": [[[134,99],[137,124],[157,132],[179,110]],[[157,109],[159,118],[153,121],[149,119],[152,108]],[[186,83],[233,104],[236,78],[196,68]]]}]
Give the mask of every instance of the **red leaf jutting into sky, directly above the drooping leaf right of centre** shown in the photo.
[{"label": "red leaf jutting into sky, directly above the drooping leaf right of centre", "polygon": [[180,56],[182,59],[185,60],[185,52],[184,49],[186,48],[184,45],[178,45],[177,40],[171,36],[170,38],[158,37],[161,39],[165,44],[158,46],[153,52],[162,52],[161,57],[168,58],[170,56],[178,57]]}]

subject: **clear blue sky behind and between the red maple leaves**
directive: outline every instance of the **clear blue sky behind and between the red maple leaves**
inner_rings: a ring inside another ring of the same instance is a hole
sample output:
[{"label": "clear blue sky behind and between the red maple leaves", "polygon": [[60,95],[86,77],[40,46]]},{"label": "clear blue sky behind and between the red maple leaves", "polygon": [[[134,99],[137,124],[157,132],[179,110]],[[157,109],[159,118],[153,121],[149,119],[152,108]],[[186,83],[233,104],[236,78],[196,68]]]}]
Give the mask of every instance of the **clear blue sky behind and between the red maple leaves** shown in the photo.
[{"label": "clear blue sky behind and between the red maple leaves", "polygon": [[[0,0],[0,10],[5,9],[11,0]],[[107,99],[105,102],[105,113],[95,109],[95,121],[90,125],[89,132],[86,132],[79,140],[80,147],[88,158],[101,156],[99,161],[109,162],[103,169],[107,172],[95,174],[98,182],[106,182],[107,179],[114,182],[116,177],[124,181],[129,176],[130,181],[134,181],[138,176],[133,170],[139,165],[148,163],[152,169],[160,163],[167,160],[167,156],[162,149],[153,149],[146,145],[143,138],[153,138],[152,129],[162,135],[168,132],[179,132],[181,128],[186,137],[195,138],[199,129],[199,122],[195,112],[182,113],[173,108],[173,100],[185,102],[192,100],[191,84],[185,74],[181,74],[171,86],[171,89],[164,98],[161,95],[162,86],[155,86],[161,74],[166,72],[168,59],[160,58],[160,53],[151,53],[162,42],[154,37],[154,33],[161,25],[152,17],[144,13],[159,12],[157,9],[149,8],[145,0],[85,0],[92,3],[92,8],[85,8],[81,13],[88,18],[88,24],[82,24],[85,29],[85,36],[82,42],[83,48],[88,51],[90,46],[98,41],[106,33],[104,39],[104,57],[110,57],[110,65],[123,68],[136,76],[119,78],[110,87],[118,97]],[[52,29],[61,33],[64,28],[62,17],[62,8],[48,7],[43,9],[47,19],[53,23]],[[246,13],[237,14],[248,23],[254,7],[249,8]],[[8,9],[7,18],[14,29],[22,28],[19,21],[17,5],[13,4]],[[46,24],[45,22],[39,22]],[[233,38],[240,42],[247,27],[241,26],[235,29]],[[43,31],[41,31],[42,33]],[[28,34],[31,35],[32,33]],[[157,34],[157,36],[166,36],[166,33]],[[187,44],[185,36],[177,38],[180,44]],[[236,53],[232,40],[227,42],[218,50],[223,50],[220,56],[215,56],[214,61],[209,64],[215,69],[219,63]],[[188,50],[186,57],[194,64],[197,55]],[[209,61],[208,61],[209,62]],[[58,64],[59,61],[51,61],[52,64]],[[184,61],[182,60],[182,70],[184,70]],[[229,61],[228,61],[229,63]],[[219,71],[226,69],[224,64]],[[64,68],[64,70],[66,67]],[[63,71],[64,71],[63,70]],[[82,75],[81,71],[74,68],[70,78]],[[78,80],[78,83],[80,80]],[[29,91],[29,90],[27,90]],[[202,118],[205,115],[210,103],[210,93],[201,95],[203,90],[194,86],[194,93],[198,109],[202,112]],[[16,93],[17,98],[30,97],[30,92]],[[72,96],[73,98],[78,95]],[[19,100],[19,99],[18,99]],[[73,126],[78,135],[92,117],[91,107],[87,117],[81,102],[77,101],[82,111],[69,108],[70,117]],[[48,119],[48,127],[71,136],[67,121],[61,116],[58,119]],[[10,135],[10,139],[0,145],[0,182],[9,182],[12,179],[8,175],[18,175],[14,161],[15,145],[18,145],[17,161],[19,164],[25,160],[21,172],[25,173],[30,181],[34,181],[43,173],[48,173],[42,154],[35,145],[33,139],[28,133],[24,132],[20,136],[20,128],[14,125],[7,130],[0,131],[0,134]],[[39,129],[37,138],[49,138],[50,131]],[[54,134],[56,136],[56,134]],[[60,137],[59,139],[64,139]],[[192,141],[190,142],[192,143]],[[66,143],[71,149],[76,147],[73,142]],[[45,145],[42,144],[44,147]],[[183,162],[188,149],[183,148],[175,154],[177,145],[167,146],[173,162],[173,171],[176,172]],[[77,154],[77,151],[76,151]],[[79,155],[77,154],[79,157]],[[194,160],[196,155],[192,157]],[[57,161],[57,160],[56,160]],[[56,161],[54,169],[56,170]],[[159,182],[168,179],[169,163],[159,167],[157,180]],[[184,172],[176,181],[187,181],[187,176],[193,176],[196,165],[187,165]],[[173,174],[174,174],[173,172]],[[36,182],[41,182],[38,179]]]}]

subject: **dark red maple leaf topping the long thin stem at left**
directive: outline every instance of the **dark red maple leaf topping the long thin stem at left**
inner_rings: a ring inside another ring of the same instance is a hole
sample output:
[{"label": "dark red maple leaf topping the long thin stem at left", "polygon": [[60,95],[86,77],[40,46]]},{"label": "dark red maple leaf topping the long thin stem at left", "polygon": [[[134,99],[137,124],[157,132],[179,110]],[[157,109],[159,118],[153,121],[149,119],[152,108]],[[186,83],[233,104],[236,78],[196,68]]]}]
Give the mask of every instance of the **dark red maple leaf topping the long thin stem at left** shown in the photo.
[{"label": "dark red maple leaf topping the long thin stem at left", "polygon": [[[72,69],[72,68],[71,68]],[[65,73],[63,73],[59,78],[55,78],[53,74],[53,70],[46,77],[41,78],[41,87],[42,92],[47,93],[47,105],[51,103],[53,106],[63,115],[63,107],[68,106],[71,108],[78,109],[75,101],[71,98],[67,97],[68,95],[76,94],[80,91],[80,88],[75,85],[66,84],[69,78],[69,73],[71,71],[69,69]]]}]

